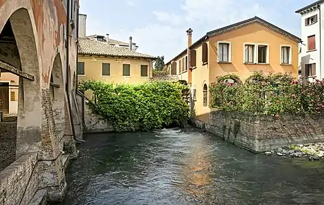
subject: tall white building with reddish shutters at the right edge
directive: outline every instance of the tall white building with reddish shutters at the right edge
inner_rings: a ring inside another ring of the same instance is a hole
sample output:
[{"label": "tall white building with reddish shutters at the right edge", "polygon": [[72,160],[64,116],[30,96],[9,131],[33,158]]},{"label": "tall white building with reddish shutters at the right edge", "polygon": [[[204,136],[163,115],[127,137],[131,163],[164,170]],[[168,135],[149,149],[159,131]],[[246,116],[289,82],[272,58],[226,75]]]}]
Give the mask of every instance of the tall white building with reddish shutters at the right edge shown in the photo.
[{"label": "tall white building with reddish shutters at the right edge", "polygon": [[324,20],[324,0],[307,5],[296,13],[301,14],[301,76],[324,79],[324,23],[321,22]]}]

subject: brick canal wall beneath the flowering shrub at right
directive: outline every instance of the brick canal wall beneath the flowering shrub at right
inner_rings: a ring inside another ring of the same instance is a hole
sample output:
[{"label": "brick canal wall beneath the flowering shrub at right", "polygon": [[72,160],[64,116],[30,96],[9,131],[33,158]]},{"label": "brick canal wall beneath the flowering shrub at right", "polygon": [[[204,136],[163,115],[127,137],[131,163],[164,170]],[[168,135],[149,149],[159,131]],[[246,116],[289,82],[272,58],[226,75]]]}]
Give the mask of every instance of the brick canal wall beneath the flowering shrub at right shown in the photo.
[{"label": "brick canal wall beneath the flowering shrub at right", "polygon": [[235,145],[264,152],[297,143],[324,141],[324,115],[268,115],[211,111],[209,122],[192,119],[192,125]]}]

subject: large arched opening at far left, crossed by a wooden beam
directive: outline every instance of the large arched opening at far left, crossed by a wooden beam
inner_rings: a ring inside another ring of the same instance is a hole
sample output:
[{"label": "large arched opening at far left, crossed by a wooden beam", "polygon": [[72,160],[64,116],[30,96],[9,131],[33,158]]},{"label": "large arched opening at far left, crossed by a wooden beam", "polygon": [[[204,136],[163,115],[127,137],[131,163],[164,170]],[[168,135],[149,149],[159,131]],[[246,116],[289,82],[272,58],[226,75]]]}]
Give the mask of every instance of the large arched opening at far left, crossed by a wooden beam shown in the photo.
[{"label": "large arched opening at far left, crossed by a wooden beam", "polygon": [[[0,128],[0,133],[5,131],[5,136],[10,136],[11,143],[10,150],[1,150],[0,159],[3,152],[8,156],[5,163],[0,161],[1,165],[9,165],[24,152],[40,150],[40,67],[34,33],[36,30],[25,8],[13,12],[0,32],[0,81],[8,81],[1,86],[4,89],[0,99],[5,101],[0,108],[5,118],[1,120],[12,121],[9,130]],[[1,144],[0,147],[8,148]]]}]

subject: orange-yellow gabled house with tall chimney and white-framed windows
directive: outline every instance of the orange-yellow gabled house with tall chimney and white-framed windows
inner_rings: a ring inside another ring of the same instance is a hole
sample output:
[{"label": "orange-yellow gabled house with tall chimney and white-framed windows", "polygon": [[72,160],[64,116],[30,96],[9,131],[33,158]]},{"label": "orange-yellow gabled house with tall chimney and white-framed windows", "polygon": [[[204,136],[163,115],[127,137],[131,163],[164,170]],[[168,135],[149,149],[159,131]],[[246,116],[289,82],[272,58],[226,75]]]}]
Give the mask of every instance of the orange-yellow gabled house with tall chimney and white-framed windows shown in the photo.
[{"label": "orange-yellow gabled house with tall chimney and white-framed windows", "polygon": [[297,78],[299,42],[297,36],[255,16],[209,31],[194,44],[188,29],[187,48],[165,66],[192,85],[194,118],[207,122],[208,87],[218,76],[237,74],[244,81],[262,70],[264,74],[291,72]]}]

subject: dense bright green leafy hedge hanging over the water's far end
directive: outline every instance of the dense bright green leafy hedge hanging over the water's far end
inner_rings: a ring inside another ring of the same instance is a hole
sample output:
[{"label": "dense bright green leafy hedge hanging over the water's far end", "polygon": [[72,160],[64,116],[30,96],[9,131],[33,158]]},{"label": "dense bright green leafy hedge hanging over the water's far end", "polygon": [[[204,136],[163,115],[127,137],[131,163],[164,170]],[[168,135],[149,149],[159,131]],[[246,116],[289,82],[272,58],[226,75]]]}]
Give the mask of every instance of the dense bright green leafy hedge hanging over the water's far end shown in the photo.
[{"label": "dense bright green leafy hedge hanging over the water's far end", "polygon": [[181,126],[189,119],[189,106],[182,99],[187,85],[152,82],[141,85],[82,81],[80,90],[92,90],[100,113],[116,131],[150,131],[170,124]]}]

